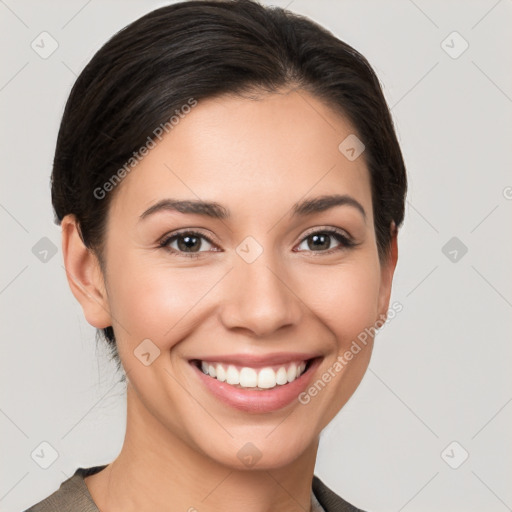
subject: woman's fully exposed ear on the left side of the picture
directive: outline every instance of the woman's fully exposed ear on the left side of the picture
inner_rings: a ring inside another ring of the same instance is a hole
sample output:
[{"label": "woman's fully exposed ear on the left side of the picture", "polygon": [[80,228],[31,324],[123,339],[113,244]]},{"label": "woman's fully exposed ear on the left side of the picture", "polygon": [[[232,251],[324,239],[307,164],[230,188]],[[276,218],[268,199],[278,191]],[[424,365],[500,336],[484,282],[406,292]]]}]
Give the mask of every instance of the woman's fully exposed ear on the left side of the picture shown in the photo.
[{"label": "woman's fully exposed ear on the left side of the picture", "polygon": [[74,215],[66,215],[61,226],[62,254],[71,292],[89,324],[97,329],[109,327],[110,308],[98,258],[85,246]]}]

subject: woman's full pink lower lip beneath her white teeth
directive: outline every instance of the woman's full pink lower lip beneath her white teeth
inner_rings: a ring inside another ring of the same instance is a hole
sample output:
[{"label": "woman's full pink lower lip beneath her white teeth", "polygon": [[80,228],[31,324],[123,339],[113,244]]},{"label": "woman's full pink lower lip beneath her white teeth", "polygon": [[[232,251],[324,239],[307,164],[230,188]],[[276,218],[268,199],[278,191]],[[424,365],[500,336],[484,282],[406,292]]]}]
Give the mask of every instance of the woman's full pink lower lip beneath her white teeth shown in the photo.
[{"label": "woman's full pink lower lip beneath her white teeth", "polygon": [[308,387],[320,362],[321,358],[314,359],[308,370],[298,379],[269,390],[235,388],[227,382],[204,374],[194,363],[190,365],[206,388],[223,403],[244,412],[265,413],[277,411],[295,400],[298,401],[299,395]]}]

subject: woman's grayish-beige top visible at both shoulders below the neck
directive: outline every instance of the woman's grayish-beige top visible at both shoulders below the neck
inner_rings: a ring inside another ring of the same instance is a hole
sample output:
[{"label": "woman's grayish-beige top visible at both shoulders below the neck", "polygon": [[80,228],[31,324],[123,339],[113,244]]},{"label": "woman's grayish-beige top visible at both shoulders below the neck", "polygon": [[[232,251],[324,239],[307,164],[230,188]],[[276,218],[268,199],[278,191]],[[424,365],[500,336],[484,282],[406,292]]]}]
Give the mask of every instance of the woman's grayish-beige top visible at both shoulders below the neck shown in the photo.
[{"label": "woman's grayish-beige top visible at both shoulders below the neck", "polygon": [[[53,494],[25,512],[100,512],[84,477],[98,473],[105,467],[78,468]],[[317,476],[313,477],[311,507],[311,512],[364,512],[340,498]]]}]

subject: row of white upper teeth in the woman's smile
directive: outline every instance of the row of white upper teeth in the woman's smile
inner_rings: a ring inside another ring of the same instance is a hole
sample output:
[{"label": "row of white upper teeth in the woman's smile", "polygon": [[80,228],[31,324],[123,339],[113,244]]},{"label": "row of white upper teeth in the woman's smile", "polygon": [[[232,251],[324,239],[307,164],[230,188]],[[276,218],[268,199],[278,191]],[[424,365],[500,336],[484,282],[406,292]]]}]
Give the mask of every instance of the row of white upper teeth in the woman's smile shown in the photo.
[{"label": "row of white upper teeth in the woman's smile", "polygon": [[306,362],[289,363],[279,367],[275,371],[271,367],[259,370],[244,366],[240,370],[232,364],[206,363],[201,361],[203,373],[221,382],[227,382],[233,386],[242,388],[272,389],[276,386],[283,386],[299,378],[306,369]]}]

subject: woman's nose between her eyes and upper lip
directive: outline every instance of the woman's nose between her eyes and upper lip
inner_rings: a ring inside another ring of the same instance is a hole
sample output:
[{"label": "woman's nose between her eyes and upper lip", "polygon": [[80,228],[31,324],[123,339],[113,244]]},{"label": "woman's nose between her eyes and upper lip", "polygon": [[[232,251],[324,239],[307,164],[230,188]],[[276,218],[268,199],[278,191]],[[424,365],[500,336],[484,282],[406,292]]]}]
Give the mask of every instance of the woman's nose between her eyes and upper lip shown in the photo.
[{"label": "woman's nose between her eyes and upper lip", "polygon": [[264,251],[252,263],[240,258],[224,280],[221,319],[227,329],[264,337],[299,323],[305,305],[290,272],[266,255]]}]

